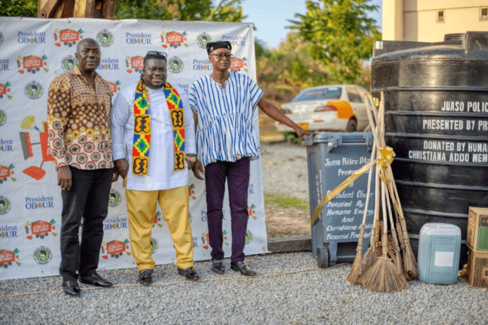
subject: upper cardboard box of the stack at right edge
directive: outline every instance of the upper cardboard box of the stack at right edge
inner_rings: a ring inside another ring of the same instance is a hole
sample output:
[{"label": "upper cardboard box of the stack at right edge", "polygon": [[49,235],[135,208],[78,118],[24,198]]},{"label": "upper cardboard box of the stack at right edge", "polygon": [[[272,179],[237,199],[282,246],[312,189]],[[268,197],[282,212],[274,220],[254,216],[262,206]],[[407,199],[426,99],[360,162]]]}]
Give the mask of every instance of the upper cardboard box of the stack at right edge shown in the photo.
[{"label": "upper cardboard box of the stack at right edge", "polygon": [[488,253],[488,208],[469,208],[466,244],[473,251]]}]

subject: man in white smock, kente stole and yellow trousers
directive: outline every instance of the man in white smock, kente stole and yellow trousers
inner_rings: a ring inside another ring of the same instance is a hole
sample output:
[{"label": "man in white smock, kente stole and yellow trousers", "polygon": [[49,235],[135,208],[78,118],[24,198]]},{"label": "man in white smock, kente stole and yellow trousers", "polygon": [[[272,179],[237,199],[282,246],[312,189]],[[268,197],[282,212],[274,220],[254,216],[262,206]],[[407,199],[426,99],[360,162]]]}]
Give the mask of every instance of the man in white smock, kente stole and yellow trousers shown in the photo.
[{"label": "man in white smock, kente stole and yellow trousers", "polygon": [[141,80],[118,93],[110,113],[114,161],[126,181],[130,244],[143,285],[151,284],[155,265],[151,229],[157,202],[176,249],[178,273],[198,280],[188,213],[194,119],[187,93],[166,76],[165,53],[149,51]]}]

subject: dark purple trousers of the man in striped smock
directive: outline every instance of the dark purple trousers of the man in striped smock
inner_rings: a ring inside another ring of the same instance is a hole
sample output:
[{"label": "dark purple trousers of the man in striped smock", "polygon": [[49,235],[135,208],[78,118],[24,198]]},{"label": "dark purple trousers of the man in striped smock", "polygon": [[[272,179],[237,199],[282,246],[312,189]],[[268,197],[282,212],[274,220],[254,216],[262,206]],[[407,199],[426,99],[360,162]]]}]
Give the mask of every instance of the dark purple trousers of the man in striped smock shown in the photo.
[{"label": "dark purple trousers of the man in striped smock", "polygon": [[229,187],[229,205],[231,208],[232,262],[244,261],[245,233],[248,228],[248,157],[235,163],[217,161],[205,166],[205,186],[207,189],[207,223],[210,254],[213,259],[224,258],[222,250],[222,205],[224,203],[225,180]]}]

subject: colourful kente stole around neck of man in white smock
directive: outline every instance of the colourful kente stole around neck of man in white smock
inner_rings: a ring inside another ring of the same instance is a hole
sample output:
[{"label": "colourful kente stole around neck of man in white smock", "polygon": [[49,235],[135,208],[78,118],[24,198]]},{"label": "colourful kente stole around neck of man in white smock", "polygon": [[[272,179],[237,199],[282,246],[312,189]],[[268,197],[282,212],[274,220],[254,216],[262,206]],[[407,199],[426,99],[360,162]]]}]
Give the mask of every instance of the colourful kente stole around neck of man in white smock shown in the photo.
[{"label": "colourful kente stole around neck of man in white smock", "polygon": [[[170,111],[175,147],[174,171],[184,170],[184,113],[182,98],[169,83],[163,86]],[[151,144],[151,105],[142,80],[137,83],[134,97],[133,174],[147,175]]]}]

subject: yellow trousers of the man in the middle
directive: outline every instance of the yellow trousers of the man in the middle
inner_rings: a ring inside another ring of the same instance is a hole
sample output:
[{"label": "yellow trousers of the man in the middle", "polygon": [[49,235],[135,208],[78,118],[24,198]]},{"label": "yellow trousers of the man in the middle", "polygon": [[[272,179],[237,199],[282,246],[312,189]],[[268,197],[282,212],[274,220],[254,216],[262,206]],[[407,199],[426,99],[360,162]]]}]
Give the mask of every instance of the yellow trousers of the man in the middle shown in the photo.
[{"label": "yellow trousers of the man in the middle", "polygon": [[130,245],[137,268],[152,270],[155,265],[151,254],[151,230],[157,202],[164,220],[168,223],[176,249],[177,267],[185,269],[193,266],[194,244],[188,216],[188,186],[161,191],[126,189],[126,196]]}]

